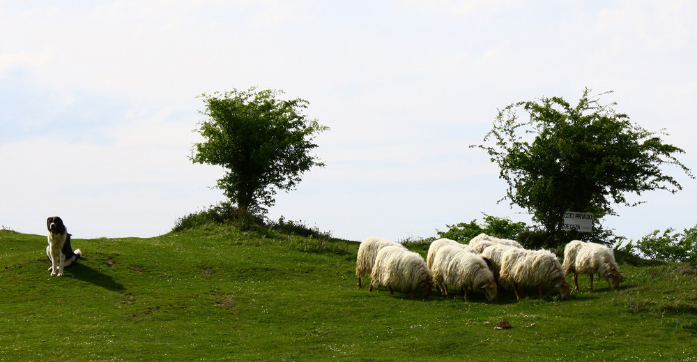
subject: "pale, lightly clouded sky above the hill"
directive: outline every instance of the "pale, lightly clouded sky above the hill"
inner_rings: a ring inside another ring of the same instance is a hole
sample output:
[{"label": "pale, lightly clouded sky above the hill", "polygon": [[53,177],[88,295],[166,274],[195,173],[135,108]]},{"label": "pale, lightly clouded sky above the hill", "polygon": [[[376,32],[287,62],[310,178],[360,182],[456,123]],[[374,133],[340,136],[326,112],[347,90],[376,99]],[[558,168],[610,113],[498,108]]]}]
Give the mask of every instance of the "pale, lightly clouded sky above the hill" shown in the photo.
[{"label": "pale, lightly clouded sky above the hill", "polygon": [[[202,93],[280,89],[331,129],[326,164],[268,217],[332,236],[436,236],[484,214],[506,184],[481,144],[499,109],[583,89],[684,149],[697,169],[697,2],[0,0],[0,225],[78,239],[151,237],[224,200],[194,164]],[[697,181],[618,206],[638,239],[697,224]]]}]

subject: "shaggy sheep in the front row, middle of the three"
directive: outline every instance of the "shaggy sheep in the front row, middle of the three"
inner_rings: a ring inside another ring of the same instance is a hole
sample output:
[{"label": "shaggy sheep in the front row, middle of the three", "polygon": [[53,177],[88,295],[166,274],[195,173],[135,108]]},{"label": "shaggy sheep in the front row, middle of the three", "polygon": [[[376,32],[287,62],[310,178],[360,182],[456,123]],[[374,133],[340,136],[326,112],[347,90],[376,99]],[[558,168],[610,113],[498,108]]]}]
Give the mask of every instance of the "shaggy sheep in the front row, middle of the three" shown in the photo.
[{"label": "shaggy sheep in the front row, middle of the three", "polygon": [[496,280],[484,259],[458,246],[443,246],[438,250],[431,266],[431,275],[434,284],[441,286],[447,297],[450,297],[447,286],[453,285],[463,289],[465,301],[469,301],[468,287],[473,291],[484,289],[484,295],[489,301],[498,298]]}]

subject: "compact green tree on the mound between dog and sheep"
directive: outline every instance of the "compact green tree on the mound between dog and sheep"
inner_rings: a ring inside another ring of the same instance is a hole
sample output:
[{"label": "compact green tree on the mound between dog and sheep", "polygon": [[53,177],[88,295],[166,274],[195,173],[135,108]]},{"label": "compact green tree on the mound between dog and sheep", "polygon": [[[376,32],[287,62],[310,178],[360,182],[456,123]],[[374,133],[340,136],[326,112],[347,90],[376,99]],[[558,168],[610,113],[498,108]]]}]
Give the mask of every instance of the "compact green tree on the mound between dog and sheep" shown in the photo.
[{"label": "compact green tree on the mound between dog and sheep", "polygon": [[217,187],[243,211],[265,213],[276,190],[293,190],[303,172],[324,165],[309,153],[316,134],[329,128],[301,113],[307,100],[277,99],[282,93],[252,87],[201,96],[208,120],[198,132],[205,141],[194,144],[191,160],[224,167]]}]

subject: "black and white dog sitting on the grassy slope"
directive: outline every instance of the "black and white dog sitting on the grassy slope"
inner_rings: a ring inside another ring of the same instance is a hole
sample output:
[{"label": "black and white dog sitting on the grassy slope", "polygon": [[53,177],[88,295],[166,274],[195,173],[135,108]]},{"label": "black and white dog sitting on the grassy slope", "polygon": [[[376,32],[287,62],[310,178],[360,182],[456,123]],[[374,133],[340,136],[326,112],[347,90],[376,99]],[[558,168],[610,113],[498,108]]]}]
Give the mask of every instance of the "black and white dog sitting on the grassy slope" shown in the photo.
[{"label": "black and white dog sitting on the grassy slope", "polygon": [[51,260],[51,267],[48,270],[51,276],[63,276],[63,268],[77,261],[82,256],[82,252],[79,249],[72,251],[70,234],[61,218],[51,216],[46,220],[46,227],[48,228],[46,255]]}]

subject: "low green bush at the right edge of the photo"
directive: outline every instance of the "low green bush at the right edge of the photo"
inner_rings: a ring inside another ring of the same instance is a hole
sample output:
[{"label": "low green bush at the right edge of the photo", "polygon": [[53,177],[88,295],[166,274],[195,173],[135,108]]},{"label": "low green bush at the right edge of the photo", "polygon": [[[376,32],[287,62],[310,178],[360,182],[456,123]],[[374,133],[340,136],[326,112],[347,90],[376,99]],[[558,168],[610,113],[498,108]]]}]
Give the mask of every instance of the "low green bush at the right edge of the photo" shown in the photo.
[{"label": "low green bush at the right edge of the photo", "polygon": [[672,228],[662,234],[654,230],[637,241],[636,248],[650,259],[697,263],[697,225],[682,233]]}]

